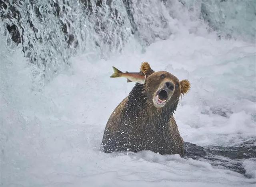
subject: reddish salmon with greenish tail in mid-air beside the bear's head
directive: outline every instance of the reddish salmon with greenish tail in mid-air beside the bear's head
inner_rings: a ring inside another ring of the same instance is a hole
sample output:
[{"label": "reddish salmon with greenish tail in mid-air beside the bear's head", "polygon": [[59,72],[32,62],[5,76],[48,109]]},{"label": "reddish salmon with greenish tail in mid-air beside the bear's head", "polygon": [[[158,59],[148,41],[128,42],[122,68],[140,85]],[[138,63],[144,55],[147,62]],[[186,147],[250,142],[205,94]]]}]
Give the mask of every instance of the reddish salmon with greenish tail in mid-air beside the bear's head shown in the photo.
[{"label": "reddish salmon with greenish tail in mid-air beside the bear's head", "polygon": [[116,69],[114,66],[112,66],[112,68],[114,70],[114,73],[110,76],[112,78],[125,77],[127,79],[127,83],[130,83],[130,82],[136,82],[136,83],[140,83],[140,84],[145,83],[146,75],[142,71],[131,72],[131,73],[126,71],[125,73],[123,73],[122,71]]}]

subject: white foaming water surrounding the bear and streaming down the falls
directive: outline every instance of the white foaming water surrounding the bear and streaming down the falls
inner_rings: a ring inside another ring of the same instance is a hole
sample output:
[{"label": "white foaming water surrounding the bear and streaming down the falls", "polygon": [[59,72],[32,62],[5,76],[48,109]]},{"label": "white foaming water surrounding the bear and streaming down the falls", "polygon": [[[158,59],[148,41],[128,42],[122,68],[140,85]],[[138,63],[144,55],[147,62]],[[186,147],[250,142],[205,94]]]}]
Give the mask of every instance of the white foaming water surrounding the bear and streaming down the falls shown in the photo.
[{"label": "white foaming water surrounding the bear and streaming down the falls", "polygon": [[[16,46],[0,26],[1,186],[255,186],[255,158],[242,160],[242,175],[213,167],[207,160],[179,155],[100,151],[108,117],[134,85],[125,79],[110,79],[111,66],[137,71],[142,61],[148,61],[155,71],[166,70],[180,80],[190,80],[192,88],[182,97],[174,116],[186,142],[240,146],[250,141],[256,145],[256,46],[251,42],[255,35],[249,28],[244,34],[247,39],[237,37],[238,33],[234,35],[236,40],[220,39],[218,32],[225,31],[211,31],[200,19],[200,7],[215,1],[184,2],[186,6],[174,0],[162,4],[133,1],[131,14],[136,29],[131,26],[124,4],[112,2],[122,24],[117,26],[115,20],[109,19],[109,12],[103,12],[100,18],[109,21],[109,32],[103,29],[100,33],[87,28],[96,23],[96,13],[87,17],[82,9],[65,9],[68,12],[63,15],[75,20],[69,33],[76,36],[79,47],[67,47],[65,34],[53,40],[46,37],[42,44],[33,42],[33,55],[55,51],[47,58],[46,66],[24,57],[22,49],[33,40],[32,36]],[[72,3],[70,7],[80,6],[80,2]],[[102,4],[107,11],[106,3]],[[92,4],[96,10],[98,6]],[[25,15],[26,6],[21,14]],[[41,12],[47,10],[42,7]],[[83,22],[76,21],[79,15],[88,24],[79,25]],[[246,15],[255,21],[251,13]],[[61,19],[46,18],[44,26],[34,23],[40,32],[47,36],[49,32],[54,36],[61,33],[60,25],[55,24]],[[22,24],[27,24],[26,19]],[[48,22],[56,27],[47,28]],[[87,34],[86,42],[78,37],[82,32]],[[122,40],[120,35],[124,36]],[[106,42],[103,38],[111,39]],[[80,55],[70,58],[74,54]],[[62,71],[54,73],[56,69]],[[50,78],[42,87],[42,77],[46,76]]]}]

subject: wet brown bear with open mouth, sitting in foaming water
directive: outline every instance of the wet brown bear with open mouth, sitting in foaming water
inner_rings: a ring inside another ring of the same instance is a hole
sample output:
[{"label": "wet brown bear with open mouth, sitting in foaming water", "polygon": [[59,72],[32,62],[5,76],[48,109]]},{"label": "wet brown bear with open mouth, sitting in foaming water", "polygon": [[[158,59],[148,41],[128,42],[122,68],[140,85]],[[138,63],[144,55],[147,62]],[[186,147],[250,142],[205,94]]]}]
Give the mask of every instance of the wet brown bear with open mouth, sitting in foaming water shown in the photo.
[{"label": "wet brown bear with open mouth, sitting in foaming water", "polygon": [[181,95],[190,89],[189,81],[179,81],[166,71],[154,72],[147,62],[140,71],[146,75],[145,83],[137,83],[108,119],[104,152],[151,150],[184,155],[173,114]]}]

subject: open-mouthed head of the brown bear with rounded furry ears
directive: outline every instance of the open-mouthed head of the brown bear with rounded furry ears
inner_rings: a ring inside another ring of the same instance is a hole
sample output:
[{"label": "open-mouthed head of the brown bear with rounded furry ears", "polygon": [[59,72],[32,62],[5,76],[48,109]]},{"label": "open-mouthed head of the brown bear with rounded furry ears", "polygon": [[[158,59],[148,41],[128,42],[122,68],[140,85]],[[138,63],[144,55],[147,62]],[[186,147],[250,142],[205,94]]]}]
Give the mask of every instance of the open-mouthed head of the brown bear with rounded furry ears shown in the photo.
[{"label": "open-mouthed head of the brown bear with rounded furry ears", "polygon": [[188,80],[179,81],[167,71],[154,72],[147,62],[142,63],[140,71],[146,75],[144,94],[147,96],[147,102],[156,108],[178,104],[181,94],[188,93],[190,89]]}]

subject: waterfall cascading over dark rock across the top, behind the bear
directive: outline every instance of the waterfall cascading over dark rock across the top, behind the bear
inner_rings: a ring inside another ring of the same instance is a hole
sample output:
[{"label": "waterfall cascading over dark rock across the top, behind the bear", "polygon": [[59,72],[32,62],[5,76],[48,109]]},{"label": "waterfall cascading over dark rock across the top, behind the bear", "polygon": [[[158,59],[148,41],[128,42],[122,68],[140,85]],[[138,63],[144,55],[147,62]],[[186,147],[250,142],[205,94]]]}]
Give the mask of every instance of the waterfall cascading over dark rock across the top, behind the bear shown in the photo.
[{"label": "waterfall cascading over dark rock across the top, behind the bear", "polygon": [[[24,57],[38,67],[34,74],[49,79],[68,67],[71,56],[89,53],[108,59],[122,52],[132,38],[143,47],[183,32],[184,27],[190,33],[203,28],[215,30],[219,37],[239,36],[253,42],[255,4],[232,0],[7,0],[0,1],[0,30],[4,46],[22,46]],[[245,11],[254,16],[242,17]]]}]

